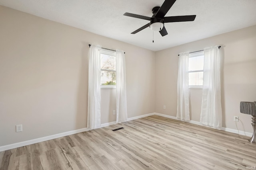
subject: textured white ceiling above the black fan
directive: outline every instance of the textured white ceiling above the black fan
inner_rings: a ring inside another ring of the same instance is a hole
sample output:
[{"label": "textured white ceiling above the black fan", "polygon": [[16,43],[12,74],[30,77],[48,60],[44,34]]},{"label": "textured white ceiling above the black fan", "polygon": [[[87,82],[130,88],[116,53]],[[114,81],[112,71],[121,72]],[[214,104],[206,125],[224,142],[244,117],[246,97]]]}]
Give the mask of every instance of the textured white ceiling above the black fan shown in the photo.
[{"label": "textured white ceiling above the black fan", "polygon": [[7,6],[48,20],[117,39],[153,51],[256,25],[256,0],[176,0],[166,16],[196,15],[190,22],[166,23],[168,35],[146,28],[147,20],[125,12],[152,16],[164,0],[0,0]]}]

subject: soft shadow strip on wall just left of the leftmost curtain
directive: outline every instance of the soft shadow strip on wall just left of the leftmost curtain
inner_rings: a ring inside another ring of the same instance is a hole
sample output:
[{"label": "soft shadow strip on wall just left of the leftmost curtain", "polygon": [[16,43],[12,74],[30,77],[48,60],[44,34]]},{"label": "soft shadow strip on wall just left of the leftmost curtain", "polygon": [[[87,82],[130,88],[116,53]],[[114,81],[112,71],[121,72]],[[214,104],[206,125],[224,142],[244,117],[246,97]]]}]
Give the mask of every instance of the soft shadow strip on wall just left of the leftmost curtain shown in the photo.
[{"label": "soft shadow strip on wall just left of the leftmost curtain", "polygon": [[[88,64],[89,47],[88,42],[82,42],[80,59],[80,72],[77,90],[76,108],[76,129],[87,127],[87,106],[88,106]],[[81,127],[82,126],[82,127]]]}]

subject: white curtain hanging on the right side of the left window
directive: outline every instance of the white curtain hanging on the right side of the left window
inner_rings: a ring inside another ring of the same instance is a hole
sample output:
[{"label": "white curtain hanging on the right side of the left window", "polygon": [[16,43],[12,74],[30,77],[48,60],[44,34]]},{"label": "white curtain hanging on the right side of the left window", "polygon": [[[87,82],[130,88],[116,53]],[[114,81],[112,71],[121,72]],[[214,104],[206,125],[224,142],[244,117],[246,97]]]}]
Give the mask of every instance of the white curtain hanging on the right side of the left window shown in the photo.
[{"label": "white curtain hanging on the right side of the left window", "polygon": [[116,123],[127,121],[124,51],[116,50]]}]

